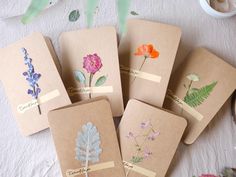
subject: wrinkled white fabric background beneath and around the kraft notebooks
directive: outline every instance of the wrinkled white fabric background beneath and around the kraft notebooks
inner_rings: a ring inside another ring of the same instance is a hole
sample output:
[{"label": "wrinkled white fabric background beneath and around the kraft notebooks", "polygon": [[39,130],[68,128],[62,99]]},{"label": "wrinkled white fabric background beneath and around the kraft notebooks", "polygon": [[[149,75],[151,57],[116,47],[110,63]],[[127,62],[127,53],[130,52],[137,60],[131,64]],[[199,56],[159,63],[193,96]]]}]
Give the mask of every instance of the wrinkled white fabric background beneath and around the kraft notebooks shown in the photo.
[{"label": "wrinkled white fabric background beneath and around the kraft notebooks", "polygon": [[[8,0],[8,2],[16,1]],[[58,48],[60,33],[86,27],[84,4],[85,0],[62,0],[25,26],[20,23],[19,18],[0,21],[0,47],[39,31],[52,39],[60,56]],[[0,1],[0,7],[1,12],[9,13],[11,10],[14,12],[4,0]],[[80,19],[75,23],[69,22],[70,11],[77,8],[81,12]],[[216,20],[203,12],[197,0],[132,0],[130,10],[139,13],[135,18],[155,20],[182,28],[183,35],[176,66],[197,46],[207,47],[236,66],[236,17]],[[134,17],[130,15],[129,18]],[[117,27],[115,0],[100,1],[94,26],[103,25]],[[167,176],[192,177],[200,176],[202,173],[218,174],[224,167],[236,167],[235,137],[236,126],[230,115],[229,100],[195,144],[191,146],[180,144]],[[46,130],[27,138],[22,137],[1,85],[0,177],[6,176],[61,177],[61,174],[50,131]]]}]

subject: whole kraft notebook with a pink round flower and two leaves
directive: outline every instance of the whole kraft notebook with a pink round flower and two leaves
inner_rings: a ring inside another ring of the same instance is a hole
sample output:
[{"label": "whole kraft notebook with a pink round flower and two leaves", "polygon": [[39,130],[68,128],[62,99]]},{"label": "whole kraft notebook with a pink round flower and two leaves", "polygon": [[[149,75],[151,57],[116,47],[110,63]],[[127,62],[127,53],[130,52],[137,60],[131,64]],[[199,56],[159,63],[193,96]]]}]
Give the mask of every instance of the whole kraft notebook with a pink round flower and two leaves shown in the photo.
[{"label": "whole kraft notebook with a pink round flower and two leaves", "polygon": [[115,29],[65,32],[60,47],[62,77],[72,102],[107,96],[113,116],[121,116],[124,108]]}]

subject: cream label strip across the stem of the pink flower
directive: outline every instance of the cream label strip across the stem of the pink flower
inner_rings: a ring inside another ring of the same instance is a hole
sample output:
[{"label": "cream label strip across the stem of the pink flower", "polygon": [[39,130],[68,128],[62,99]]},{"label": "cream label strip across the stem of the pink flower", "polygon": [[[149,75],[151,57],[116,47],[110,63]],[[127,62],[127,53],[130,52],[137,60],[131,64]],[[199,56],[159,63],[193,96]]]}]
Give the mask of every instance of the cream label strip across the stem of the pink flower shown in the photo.
[{"label": "cream label strip across the stem of the pink flower", "polygon": [[76,94],[89,94],[89,93],[112,93],[113,87],[112,86],[81,87],[81,88],[69,87],[67,89],[67,92],[70,96]]}]

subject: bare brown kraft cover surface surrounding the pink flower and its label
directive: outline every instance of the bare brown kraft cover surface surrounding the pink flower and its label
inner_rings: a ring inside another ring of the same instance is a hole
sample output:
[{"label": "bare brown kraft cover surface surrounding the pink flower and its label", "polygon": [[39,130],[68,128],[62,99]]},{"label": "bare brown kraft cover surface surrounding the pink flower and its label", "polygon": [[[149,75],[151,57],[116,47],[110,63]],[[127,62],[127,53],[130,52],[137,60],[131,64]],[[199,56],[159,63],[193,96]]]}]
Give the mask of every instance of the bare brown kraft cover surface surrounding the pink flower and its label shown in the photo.
[{"label": "bare brown kraft cover surface surrounding the pink flower and its label", "polygon": [[[102,86],[112,87],[113,92],[93,93],[91,97],[107,96],[114,117],[123,113],[123,97],[121,90],[120,70],[118,61],[117,36],[115,28],[102,27],[62,33],[60,36],[62,56],[62,77],[67,88],[88,87],[89,73],[83,68],[83,58],[89,54],[97,54],[102,61],[102,67],[95,73],[92,80],[94,87],[96,80],[106,76]],[[86,77],[86,86],[75,78],[75,71],[80,70]],[[69,91],[70,92],[70,91]],[[69,94],[70,95],[70,94]],[[89,98],[89,94],[77,93],[70,95],[72,102]]]}]

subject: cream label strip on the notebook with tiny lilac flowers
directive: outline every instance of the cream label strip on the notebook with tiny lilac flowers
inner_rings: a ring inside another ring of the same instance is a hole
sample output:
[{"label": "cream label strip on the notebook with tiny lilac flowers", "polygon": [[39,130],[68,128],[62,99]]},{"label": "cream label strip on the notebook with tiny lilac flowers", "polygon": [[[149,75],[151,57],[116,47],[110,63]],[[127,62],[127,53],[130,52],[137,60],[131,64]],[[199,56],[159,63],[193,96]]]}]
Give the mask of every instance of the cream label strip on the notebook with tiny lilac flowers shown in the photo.
[{"label": "cream label strip on the notebook with tiny lilac flowers", "polygon": [[156,173],[148,169],[139,167],[137,165],[131,164],[129,162],[123,161],[124,167],[128,170],[134,171],[136,173],[142,174],[147,177],[156,177]]}]

